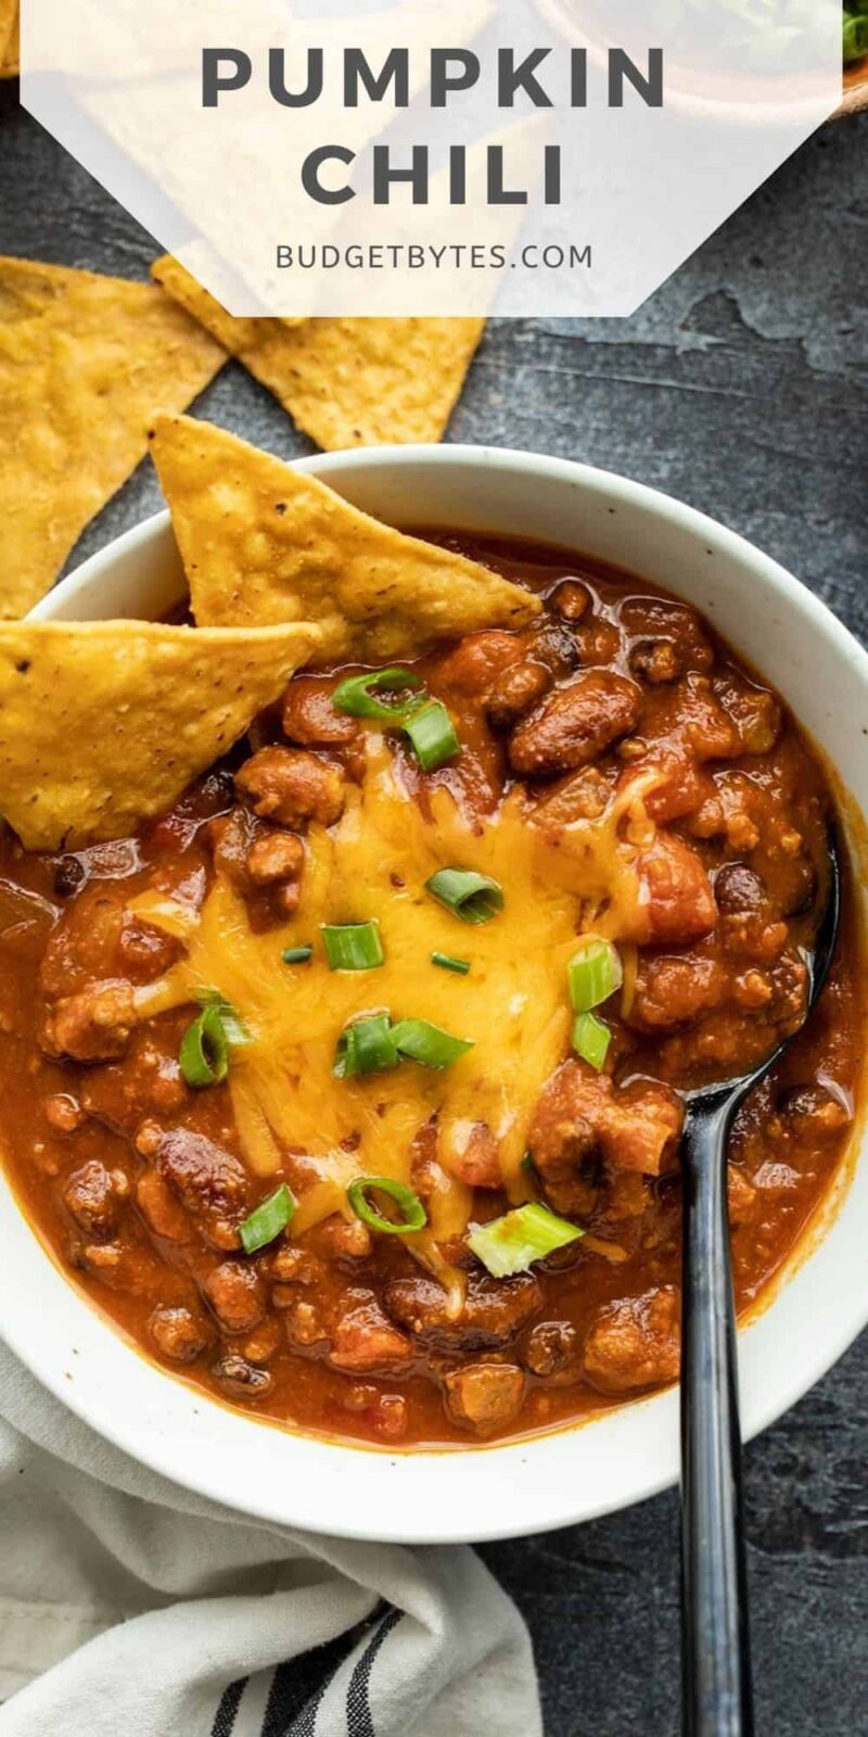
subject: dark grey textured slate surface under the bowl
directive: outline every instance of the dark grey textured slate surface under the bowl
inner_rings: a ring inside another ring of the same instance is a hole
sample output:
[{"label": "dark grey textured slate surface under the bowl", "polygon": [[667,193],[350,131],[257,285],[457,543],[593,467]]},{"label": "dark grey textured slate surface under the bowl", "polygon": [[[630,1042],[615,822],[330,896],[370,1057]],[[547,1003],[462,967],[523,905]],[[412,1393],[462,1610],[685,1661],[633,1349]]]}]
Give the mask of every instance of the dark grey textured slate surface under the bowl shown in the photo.
[{"label": "dark grey textured slate surface under the bowl", "polygon": [[[144,274],[153,245],[0,87],[0,252]],[[623,471],[745,532],[868,637],[868,116],[818,134],[628,321],[490,328],[451,436]],[[201,408],[306,441],[240,368]],[[87,532],[158,504],[141,471]],[[76,556],[76,558],[78,558]],[[759,1732],[868,1728],[868,1339],[746,1452]],[[550,1737],[677,1732],[674,1496],[484,1549],[533,1629]]]}]

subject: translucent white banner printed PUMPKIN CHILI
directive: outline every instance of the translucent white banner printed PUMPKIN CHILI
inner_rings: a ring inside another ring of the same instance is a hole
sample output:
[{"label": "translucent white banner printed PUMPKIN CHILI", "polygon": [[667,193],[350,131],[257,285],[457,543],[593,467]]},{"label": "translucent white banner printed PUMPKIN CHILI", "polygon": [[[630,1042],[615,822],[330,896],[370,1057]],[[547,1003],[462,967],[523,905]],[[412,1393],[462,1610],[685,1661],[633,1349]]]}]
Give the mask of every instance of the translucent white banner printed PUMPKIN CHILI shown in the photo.
[{"label": "translucent white banner printed PUMPKIN CHILI", "polygon": [[628,314],[840,101],[838,0],[23,0],[23,102],[233,314]]}]

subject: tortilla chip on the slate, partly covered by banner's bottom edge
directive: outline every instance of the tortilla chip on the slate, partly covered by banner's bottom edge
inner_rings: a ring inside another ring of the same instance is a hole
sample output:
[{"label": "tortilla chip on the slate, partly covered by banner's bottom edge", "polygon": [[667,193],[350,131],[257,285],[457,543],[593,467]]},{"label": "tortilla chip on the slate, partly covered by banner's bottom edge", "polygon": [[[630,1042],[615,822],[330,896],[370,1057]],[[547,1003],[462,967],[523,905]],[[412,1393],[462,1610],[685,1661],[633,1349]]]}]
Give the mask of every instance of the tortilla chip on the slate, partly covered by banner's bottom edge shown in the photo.
[{"label": "tortilla chip on the slate, partly covered by banner's bottom edge", "polygon": [[437,441],[484,320],[234,320],[170,254],[153,274],[326,452]]}]

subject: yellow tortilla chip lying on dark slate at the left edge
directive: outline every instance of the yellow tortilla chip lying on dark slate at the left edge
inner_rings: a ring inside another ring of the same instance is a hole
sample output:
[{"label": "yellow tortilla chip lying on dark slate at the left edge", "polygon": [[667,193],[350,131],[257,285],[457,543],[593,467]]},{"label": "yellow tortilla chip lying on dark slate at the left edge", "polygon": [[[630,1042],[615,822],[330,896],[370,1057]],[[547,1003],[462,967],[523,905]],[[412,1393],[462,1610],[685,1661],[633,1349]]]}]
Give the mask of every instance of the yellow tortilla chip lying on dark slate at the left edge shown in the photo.
[{"label": "yellow tortilla chip lying on dark slate at the left edge", "polygon": [[184,410],[224,360],[151,283],[0,259],[0,618],[56,580],[144,457],[153,406]]}]

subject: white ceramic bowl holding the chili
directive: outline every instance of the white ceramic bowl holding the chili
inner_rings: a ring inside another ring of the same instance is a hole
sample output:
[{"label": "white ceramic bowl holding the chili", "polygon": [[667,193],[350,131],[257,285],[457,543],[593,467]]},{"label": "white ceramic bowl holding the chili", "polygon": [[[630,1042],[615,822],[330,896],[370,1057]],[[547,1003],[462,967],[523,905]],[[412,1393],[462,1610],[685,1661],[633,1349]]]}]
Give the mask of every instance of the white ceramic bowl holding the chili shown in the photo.
[{"label": "white ceramic bowl holding the chili", "polygon": [[[396,525],[523,535],[599,556],[694,603],[790,700],[868,808],[868,657],[774,561],[689,507],[585,466],[528,453],[404,446],[304,460]],[[184,585],[160,514],[94,556],[36,617],[160,615]],[[868,1166],[825,1237],[741,1334],[745,1433],[792,1405],[868,1318]],[[505,1447],[366,1450],[271,1428],[135,1355],[47,1259],[0,1186],[0,1332],[80,1417],[148,1466],[264,1520],[345,1537],[510,1537],[623,1508],[675,1482],[675,1391]],[[35,1306],[36,1304],[36,1306]]]}]

